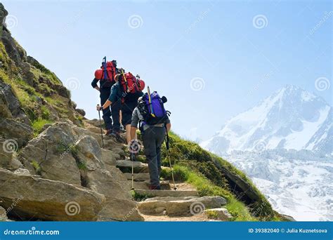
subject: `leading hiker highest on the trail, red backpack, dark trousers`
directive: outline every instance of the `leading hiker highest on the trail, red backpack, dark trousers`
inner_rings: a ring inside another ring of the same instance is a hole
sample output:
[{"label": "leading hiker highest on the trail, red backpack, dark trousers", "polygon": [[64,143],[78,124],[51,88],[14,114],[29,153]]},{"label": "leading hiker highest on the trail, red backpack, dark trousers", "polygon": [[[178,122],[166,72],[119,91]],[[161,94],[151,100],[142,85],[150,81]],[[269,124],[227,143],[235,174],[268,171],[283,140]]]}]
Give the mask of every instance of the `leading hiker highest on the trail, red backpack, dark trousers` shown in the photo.
[{"label": "leading hiker highest on the trail, red backpack, dark trousers", "polygon": [[[115,84],[115,75],[118,73],[117,61],[112,60],[107,62],[106,58],[103,58],[102,66],[96,70],[95,78],[91,82],[91,86],[100,92],[100,105],[103,105],[110,97],[111,88]],[[100,86],[97,85],[98,81]],[[119,111],[121,108],[121,102],[113,102],[111,107],[105,107],[103,109],[103,120],[105,123],[106,133],[105,135],[111,135],[117,138],[120,130]],[[111,118],[112,116],[112,118]],[[113,119],[113,123],[112,123]]]}]

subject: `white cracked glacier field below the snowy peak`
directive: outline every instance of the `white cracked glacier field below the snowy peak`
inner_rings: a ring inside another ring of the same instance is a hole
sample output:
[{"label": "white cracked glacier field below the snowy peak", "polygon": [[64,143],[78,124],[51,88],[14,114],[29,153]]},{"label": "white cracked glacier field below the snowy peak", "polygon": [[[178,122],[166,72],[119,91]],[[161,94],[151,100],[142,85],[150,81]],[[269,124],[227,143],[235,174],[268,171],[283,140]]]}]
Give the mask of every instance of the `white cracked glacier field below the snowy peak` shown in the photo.
[{"label": "white cracked glacier field below the snowy peak", "polygon": [[333,221],[333,161],[308,150],[233,151],[224,156],[242,169],[273,209],[303,221]]}]

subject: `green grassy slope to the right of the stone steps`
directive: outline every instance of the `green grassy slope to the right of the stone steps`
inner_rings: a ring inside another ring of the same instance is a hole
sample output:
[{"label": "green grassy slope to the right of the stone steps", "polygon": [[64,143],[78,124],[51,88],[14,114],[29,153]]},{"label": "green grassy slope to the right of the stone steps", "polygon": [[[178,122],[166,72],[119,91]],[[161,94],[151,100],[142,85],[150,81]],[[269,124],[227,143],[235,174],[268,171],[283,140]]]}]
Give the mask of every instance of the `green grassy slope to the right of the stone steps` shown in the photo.
[{"label": "green grassy slope to the right of the stone steps", "polygon": [[[194,142],[170,135],[170,157],[176,180],[184,180],[197,187],[200,196],[223,196],[226,208],[234,220],[282,220],[267,199],[247,176],[228,161],[202,149]],[[169,166],[165,148],[163,166]],[[163,171],[171,179],[170,171]]]}]

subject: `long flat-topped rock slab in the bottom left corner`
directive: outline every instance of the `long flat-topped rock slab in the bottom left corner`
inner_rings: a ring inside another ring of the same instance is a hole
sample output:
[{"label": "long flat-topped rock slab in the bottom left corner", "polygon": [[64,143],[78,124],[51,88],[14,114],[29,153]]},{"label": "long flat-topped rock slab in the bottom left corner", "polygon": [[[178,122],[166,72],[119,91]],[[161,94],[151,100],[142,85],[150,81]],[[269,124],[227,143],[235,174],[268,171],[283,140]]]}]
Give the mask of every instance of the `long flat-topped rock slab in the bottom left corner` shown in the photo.
[{"label": "long flat-topped rock slab in the bottom left corner", "polygon": [[[30,220],[97,220],[105,197],[65,182],[35,178],[0,168],[0,206],[9,215]],[[13,204],[15,202],[15,204]]]}]

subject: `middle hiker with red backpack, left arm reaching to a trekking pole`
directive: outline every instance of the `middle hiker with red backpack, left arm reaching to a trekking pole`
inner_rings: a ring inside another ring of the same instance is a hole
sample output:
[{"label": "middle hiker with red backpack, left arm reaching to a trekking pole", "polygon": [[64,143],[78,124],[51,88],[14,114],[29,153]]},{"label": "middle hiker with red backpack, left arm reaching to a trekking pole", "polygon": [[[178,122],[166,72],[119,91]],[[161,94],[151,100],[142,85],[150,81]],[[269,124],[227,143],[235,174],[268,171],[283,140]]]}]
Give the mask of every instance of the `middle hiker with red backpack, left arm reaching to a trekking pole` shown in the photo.
[{"label": "middle hiker with red backpack, left arm reaching to a trekking pole", "polygon": [[126,142],[131,141],[131,117],[133,109],[138,105],[138,98],[143,93],[142,90],[145,88],[145,83],[141,79],[136,79],[130,72],[122,74],[116,74],[116,84],[111,88],[109,98],[106,100],[100,109],[107,109],[114,102],[122,102],[122,125],[126,129]]}]

